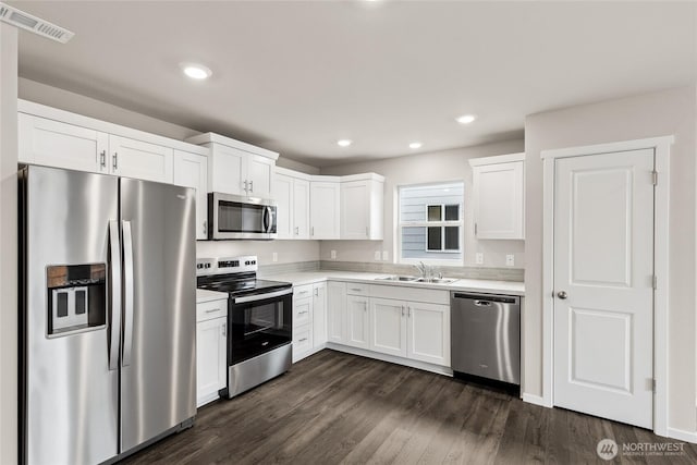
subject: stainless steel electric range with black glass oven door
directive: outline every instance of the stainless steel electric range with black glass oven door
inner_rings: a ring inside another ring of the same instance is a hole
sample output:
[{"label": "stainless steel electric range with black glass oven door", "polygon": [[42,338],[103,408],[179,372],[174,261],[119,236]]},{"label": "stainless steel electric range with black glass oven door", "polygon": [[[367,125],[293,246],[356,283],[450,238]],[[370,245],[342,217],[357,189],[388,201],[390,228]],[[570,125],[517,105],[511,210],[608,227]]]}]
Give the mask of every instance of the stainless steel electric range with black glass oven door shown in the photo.
[{"label": "stainless steel electric range with black glass oven door", "polygon": [[221,396],[234,397],[291,366],[293,285],[258,280],[256,272],[256,256],[196,260],[198,287],[229,295],[228,388]]}]

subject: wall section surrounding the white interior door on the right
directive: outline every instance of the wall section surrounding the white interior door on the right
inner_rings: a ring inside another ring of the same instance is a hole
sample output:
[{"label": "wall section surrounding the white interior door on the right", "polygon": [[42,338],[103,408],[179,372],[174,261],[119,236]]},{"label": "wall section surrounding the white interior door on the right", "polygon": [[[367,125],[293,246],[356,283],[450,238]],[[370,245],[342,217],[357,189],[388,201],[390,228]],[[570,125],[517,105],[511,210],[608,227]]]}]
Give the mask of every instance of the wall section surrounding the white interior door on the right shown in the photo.
[{"label": "wall section surrounding the white interior door on the right", "polygon": [[[696,87],[533,114],[525,120],[526,250],[524,392],[542,395],[542,162],[546,149],[675,135],[671,149],[669,427],[697,430],[695,415]],[[660,277],[659,277],[660,278]]]}]

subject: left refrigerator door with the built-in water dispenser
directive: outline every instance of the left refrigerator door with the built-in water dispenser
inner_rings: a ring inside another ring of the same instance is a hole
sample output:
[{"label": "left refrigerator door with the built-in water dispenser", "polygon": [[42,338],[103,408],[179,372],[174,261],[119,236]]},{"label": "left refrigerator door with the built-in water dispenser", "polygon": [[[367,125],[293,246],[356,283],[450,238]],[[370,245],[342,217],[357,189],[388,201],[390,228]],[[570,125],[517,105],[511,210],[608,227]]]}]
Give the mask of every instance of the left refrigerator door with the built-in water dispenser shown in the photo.
[{"label": "left refrigerator door with the built-in water dispenser", "polygon": [[[118,180],[42,167],[28,167],[22,179],[23,460],[101,463],[119,452],[119,371],[109,370],[110,328],[102,319],[49,338],[47,267],[107,264],[109,221],[118,219]],[[108,302],[108,293],[100,294],[89,311],[103,316],[111,310]]]}]

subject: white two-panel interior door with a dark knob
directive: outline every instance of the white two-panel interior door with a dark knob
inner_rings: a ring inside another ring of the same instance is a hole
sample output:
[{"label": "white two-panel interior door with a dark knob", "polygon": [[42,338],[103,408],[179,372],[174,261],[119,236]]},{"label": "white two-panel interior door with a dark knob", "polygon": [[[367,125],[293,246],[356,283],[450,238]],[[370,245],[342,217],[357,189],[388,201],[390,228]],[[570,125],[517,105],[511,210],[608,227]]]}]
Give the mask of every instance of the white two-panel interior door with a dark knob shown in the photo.
[{"label": "white two-panel interior door with a dark knob", "polygon": [[558,159],[554,404],[652,427],[653,150]]}]

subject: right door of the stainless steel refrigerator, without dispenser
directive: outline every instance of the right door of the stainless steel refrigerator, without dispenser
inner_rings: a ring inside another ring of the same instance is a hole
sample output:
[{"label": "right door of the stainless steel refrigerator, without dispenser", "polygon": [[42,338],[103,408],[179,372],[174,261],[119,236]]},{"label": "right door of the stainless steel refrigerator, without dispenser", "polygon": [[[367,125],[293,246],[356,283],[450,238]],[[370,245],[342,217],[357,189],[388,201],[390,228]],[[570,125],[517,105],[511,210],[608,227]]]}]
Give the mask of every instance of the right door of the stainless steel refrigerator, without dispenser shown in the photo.
[{"label": "right door of the stainless steel refrigerator, without dispenser", "polygon": [[121,368],[127,452],[196,414],[195,191],[121,179],[121,220],[133,252],[123,262],[124,276],[133,273],[123,282],[133,295],[131,308],[124,298]]}]

